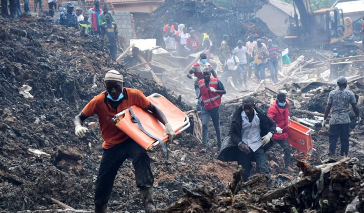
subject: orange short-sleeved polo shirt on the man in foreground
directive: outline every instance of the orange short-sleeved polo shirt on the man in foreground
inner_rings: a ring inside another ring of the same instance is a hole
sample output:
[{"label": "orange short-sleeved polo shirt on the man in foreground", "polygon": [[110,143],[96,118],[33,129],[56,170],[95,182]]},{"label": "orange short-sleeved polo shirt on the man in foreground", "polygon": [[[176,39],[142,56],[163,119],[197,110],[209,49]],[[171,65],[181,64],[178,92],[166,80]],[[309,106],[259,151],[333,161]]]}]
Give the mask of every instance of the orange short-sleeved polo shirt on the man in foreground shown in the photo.
[{"label": "orange short-sleeved polo shirt on the man in foreground", "polygon": [[94,114],[98,116],[102,138],[105,140],[102,143],[104,149],[109,149],[129,138],[112,122],[112,118],[117,113],[134,105],[147,109],[151,103],[141,91],[136,89],[124,88],[123,94],[122,103],[119,104],[117,110],[114,110],[109,104],[106,91],[95,96],[82,110],[82,114],[86,117],[91,117]]}]

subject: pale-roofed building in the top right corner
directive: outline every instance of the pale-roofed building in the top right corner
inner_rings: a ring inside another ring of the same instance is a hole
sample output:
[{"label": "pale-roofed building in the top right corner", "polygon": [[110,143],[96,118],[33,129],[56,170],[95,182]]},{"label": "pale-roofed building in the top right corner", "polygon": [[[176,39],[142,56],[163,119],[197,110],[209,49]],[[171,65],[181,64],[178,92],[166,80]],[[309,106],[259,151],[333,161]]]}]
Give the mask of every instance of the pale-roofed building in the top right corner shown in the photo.
[{"label": "pale-roofed building in the top right corner", "polygon": [[350,17],[353,22],[364,16],[364,0],[339,0],[332,7],[342,9],[344,17]]}]

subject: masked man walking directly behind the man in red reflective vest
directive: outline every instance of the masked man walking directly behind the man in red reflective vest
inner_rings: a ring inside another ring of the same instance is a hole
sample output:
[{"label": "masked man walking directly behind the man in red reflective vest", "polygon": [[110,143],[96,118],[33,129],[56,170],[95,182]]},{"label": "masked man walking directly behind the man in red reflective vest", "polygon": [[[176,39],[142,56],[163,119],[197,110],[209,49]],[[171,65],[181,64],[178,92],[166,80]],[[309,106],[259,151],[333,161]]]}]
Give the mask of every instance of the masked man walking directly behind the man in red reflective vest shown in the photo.
[{"label": "masked man walking directly behind the man in red reflective vest", "polygon": [[[190,71],[187,74],[187,77],[192,79],[195,82],[195,92],[196,97],[200,94],[200,89],[198,87],[198,82],[203,79],[202,70],[208,68],[213,75],[214,78],[217,78],[217,73],[213,70],[210,63],[207,62],[207,56],[204,53],[201,53],[200,60],[192,65]],[[193,74],[193,76],[192,76]],[[201,110],[201,105],[197,104],[197,110]]]}]

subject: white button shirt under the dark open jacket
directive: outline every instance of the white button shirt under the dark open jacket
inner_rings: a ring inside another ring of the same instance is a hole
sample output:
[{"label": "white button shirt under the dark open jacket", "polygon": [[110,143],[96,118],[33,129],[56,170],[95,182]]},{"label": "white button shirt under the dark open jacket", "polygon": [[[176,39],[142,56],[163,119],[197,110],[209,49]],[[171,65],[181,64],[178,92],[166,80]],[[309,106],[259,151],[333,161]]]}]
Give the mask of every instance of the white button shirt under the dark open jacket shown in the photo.
[{"label": "white button shirt under the dark open jacket", "polygon": [[242,117],[242,142],[249,146],[253,152],[257,151],[262,146],[261,139],[261,127],[258,113],[254,110],[254,117],[252,122],[249,122],[249,118],[245,111],[241,112]]}]

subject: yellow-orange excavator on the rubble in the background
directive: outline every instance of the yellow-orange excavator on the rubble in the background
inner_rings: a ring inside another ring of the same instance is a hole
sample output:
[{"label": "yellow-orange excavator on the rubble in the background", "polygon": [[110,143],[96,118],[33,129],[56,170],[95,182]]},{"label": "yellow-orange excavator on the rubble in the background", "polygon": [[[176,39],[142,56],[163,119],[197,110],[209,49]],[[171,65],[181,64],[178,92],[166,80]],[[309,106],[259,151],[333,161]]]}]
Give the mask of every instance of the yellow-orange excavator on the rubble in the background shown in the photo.
[{"label": "yellow-orange excavator on the rubble in the background", "polygon": [[327,46],[353,34],[352,19],[344,17],[342,9],[312,11],[310,0],[293,0],[293,6],[295,24],[288,28],[287,41],[306,47]]}]

